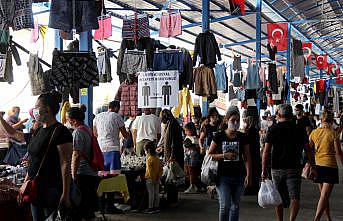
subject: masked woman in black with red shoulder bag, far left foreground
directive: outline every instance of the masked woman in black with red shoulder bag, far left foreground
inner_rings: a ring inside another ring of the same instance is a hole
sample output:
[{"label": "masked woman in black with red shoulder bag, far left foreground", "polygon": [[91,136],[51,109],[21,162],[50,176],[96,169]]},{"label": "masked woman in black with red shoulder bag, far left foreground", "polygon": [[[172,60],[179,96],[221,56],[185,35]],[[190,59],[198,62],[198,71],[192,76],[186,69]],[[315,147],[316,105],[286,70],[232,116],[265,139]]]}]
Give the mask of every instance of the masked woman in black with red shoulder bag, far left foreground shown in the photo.
[{"label": "masked woman in black with red shoulder bag, far left foreground", "polygon": [[25,181],[33,179],[42,163],[35,178],[37,200],[31,204],[34,221],[46,220],[58,205],[71,205],[69,189],[73,138],[69,130],[56,120],[61,101],[62,96],[57,92],[42,94],[33,111],[35,119],[42,124],[28,146],[29,167],[25,178]]}]

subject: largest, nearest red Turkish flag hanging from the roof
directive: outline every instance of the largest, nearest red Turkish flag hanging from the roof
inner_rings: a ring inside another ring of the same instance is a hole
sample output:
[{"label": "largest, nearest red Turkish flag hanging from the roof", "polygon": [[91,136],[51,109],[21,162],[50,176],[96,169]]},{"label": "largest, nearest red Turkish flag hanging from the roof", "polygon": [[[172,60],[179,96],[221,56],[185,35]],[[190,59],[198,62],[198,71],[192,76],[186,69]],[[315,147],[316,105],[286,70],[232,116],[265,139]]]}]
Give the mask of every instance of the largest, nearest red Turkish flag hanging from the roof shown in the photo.
[{"label": "largest, nearest red Turkish flag hanging from the roof", "polygon": [[288,40],[288,24],[268,24],[268,42],[272,45],[276,45],[278,51],[287,51]]}]

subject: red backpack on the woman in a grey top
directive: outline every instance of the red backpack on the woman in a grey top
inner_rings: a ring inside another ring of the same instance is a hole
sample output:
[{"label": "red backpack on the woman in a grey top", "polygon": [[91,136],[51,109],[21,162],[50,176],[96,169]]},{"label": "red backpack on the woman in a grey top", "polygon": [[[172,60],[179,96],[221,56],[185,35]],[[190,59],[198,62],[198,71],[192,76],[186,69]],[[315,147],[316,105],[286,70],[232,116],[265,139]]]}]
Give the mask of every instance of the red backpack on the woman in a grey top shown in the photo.
[{"label": "red backpack on the woman in a grey top", "polygon": [[88,161],[93,170],[103,171],[105,169],[104,155],[102,154],[102,151],[100,149],[98,139],[86,127],[80,127],[80,129],[87,132],[91,136],[92,140],[92,159],[88,159],[85,153],[82,153],[83,157]]}]

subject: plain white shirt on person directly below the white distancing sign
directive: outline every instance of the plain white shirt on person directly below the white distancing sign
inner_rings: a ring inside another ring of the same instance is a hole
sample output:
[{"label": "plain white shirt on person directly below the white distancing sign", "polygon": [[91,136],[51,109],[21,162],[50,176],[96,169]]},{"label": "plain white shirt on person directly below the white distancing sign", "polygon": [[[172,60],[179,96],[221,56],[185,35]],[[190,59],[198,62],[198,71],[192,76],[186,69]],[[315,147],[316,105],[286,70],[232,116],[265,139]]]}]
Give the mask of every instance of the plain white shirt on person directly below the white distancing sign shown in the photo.
[{"label": "plain white shirt on person directly below the white distancing sign", "polygon": [[157,134],[161,134],[161,120],[154,114],[143,114],[133,122],[132,129],[137,130],[137,143],[144,139],[154,141],[157,140]]}]

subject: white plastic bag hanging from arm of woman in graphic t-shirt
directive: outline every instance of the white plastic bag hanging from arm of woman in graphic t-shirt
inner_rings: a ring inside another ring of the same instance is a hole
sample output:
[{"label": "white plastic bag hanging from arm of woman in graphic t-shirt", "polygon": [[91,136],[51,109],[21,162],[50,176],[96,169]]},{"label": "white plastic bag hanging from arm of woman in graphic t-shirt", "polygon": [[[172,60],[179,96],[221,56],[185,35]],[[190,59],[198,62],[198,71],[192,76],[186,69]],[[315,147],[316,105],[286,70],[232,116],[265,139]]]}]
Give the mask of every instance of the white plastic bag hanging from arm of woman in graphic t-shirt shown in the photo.
[{"label": "white plastic bag hanging from arm of woman in graphic t-shirt", "polygon": [[208,154],[205,155],[201,166],[201,182],[206,185],[214,184],[217,180],[218,161],[212,159]]}]

